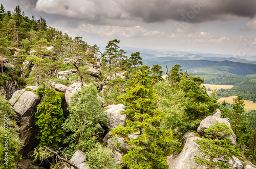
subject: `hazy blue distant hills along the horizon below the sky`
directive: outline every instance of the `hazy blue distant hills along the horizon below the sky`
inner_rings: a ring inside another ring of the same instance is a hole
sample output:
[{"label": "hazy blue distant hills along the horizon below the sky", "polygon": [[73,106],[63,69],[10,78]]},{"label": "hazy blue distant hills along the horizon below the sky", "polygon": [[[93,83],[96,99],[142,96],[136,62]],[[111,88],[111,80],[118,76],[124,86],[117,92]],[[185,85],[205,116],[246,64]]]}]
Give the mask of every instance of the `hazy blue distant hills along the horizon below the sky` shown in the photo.
[{"label": "hazy blue distant hills along the horizon below the sky", "polygon": [[191,53],[183,51],[165,51],[165,50],[147,50],[124,48],[127,56],[134,52],[140,52],[143,58],[143,64],[152,66],[158,64],[163,67],[165,72],[166,66],[171,69],[175,64],[180,64],[183,71],[193,71],[197,68],[207,68],[223,73],[246,76],[256,74],[256,56],[243,56],[243,58],[232,55],[222,54],[205,54]]}]

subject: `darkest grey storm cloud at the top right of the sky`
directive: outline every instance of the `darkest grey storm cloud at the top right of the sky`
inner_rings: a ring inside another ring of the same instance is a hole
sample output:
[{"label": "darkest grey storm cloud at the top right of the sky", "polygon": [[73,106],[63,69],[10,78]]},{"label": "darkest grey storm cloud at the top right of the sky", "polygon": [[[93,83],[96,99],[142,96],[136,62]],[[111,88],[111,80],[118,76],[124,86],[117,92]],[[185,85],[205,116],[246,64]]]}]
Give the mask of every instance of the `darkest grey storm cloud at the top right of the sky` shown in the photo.
[{"label": "darkest grey storm cloud at the top right of the sky", "polygon": [[144,22],[181,21],[186,17],[199,23],[256,15],[255,0],[130,0],[124,1],[122,8],[127,16]]}]

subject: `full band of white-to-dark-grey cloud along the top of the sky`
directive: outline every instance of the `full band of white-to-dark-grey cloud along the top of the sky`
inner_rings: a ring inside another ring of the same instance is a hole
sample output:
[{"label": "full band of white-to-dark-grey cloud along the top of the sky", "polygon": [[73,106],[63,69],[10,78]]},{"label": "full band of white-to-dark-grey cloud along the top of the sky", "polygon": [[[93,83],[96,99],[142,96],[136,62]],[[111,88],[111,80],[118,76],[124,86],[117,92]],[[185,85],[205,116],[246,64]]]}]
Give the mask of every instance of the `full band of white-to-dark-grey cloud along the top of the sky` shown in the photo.
[{"label": "full band of white-to-dark-grey cloud along the top of the sky", "polygon": [[[35,9],[49,14],[102,22],[105,19],[142,20],[164,22],[167,20],[200,23],[213,20],[230,20],[237,17],[253,18],[255,0],[22,0]],[[62,8],[61,8],[62,7]],[[200,9],[199,9],[200,8]]]}]

